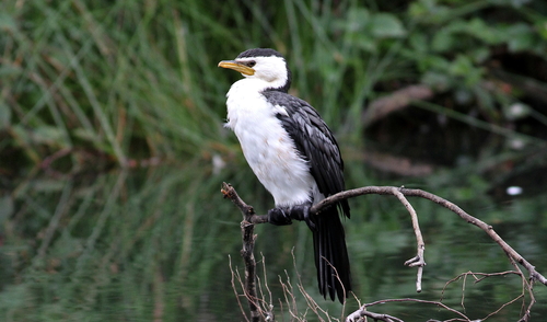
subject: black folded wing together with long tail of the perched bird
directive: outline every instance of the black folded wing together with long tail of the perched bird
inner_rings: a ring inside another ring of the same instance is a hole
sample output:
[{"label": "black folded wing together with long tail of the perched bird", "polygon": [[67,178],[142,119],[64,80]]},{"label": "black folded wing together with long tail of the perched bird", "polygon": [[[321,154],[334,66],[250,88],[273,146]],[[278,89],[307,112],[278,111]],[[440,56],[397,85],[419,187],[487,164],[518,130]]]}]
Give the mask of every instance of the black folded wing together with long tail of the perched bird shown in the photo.
[{"label": "black folded wing together with long tail of the perched bird", "polygon": [[[263,93],[274,105],[284,107],[287,114],[278,113],[283,128],[294,141],[302,158],[310,162],[311,173],[319,192],[327,196],[344,189],[344,162],[335,137],[327,125],[305,101],[282,92]],[[342,200],[337,205],[349,218],[349,205]],[[344,302],[351,290],[351,272],[344,227],[337,207],[324,209],[314,218],[313,243],[319,292]]]}]

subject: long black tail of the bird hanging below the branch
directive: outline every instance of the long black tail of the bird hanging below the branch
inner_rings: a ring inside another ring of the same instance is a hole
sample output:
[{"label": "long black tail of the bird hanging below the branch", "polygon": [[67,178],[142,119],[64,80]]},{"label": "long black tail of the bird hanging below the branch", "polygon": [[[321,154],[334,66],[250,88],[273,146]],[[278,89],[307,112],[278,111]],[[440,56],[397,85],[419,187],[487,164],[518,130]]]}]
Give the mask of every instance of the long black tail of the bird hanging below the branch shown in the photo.
[{"label": "long black tail of the bird hanging below the branch", "polygon": [[[349,207],[347,214],[349,215]],[[344,303],[351,290],[351,274],[346,233],[336,206],[323,210],[315,218],[313,245],[321,295],[326,299],[328,294],[334,301],[336,294]]]}]

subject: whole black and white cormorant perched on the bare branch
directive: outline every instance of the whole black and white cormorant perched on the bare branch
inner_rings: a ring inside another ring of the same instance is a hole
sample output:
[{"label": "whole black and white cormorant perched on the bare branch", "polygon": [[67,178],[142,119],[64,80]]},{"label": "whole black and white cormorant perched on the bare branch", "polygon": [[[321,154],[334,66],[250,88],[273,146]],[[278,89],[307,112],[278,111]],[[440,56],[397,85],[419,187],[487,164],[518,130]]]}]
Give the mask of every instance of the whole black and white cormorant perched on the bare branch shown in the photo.
[{"label": "whole black and white cormorant perched on the bare branch", "polygon": [[344,191],[344,161],[338,143],[319,114],[307,102],[288,93],[291,71],[274,49],[243,51],[219,67],[241,72],[226,94],[228,123],[260,183],[274,196],[268,211],[274,225],[305,220],[313,231],[319,292],[344,302],[351,276],[341,211],[347,200],[310,216],[310,208]]}]

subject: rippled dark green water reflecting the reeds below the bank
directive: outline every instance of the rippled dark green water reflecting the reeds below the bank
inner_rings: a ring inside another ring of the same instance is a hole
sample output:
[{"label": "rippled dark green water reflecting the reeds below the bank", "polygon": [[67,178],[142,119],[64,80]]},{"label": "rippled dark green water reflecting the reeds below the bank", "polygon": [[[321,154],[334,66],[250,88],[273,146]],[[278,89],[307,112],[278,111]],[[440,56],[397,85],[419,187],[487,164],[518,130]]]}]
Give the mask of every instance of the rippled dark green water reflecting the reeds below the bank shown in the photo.
[{"label": "rippled dark green water reflecting the reeds below the bank", "polygon": [[[230,271],[230,261],[234,269],[243,267],[241,215],[222,198],[220,186],[226,180],[241,187],[242,197],[258,212],[271,200],[247,169],[230,173],[155,168],[65,179],[36,176],[13,185],[1,199],[0,320],[241,321]],[[362,302],[407,297],[434,301],[444,284],[461,273],[511,269],[505,255],[478,228],[431,202],[410,202],[426,240],[428,265],[421,294],[415,291],[416,268],[403,265],[415,255],[404,207],[388,196],[351,199],[347,242],[354,291]],[[542,196],[532,196],[497,204],[478,195],[463,198],[459,205],[493,225],[545,274],[546,203]],[[255,231],[255,254],[259,263],[266,258],[266,280],[278,318],[283,315],[280,300],[287,310],[279,280],[290,279],[296,287],[299,274],[306,291],[330,314],[340,317],[339,303],[324,301],[316,289],[306,226],[263,225]],[[474,319],[485,317],[520,292],[516,276],[491,277],[476,285],[469,276],[465,312]],[[295,296],[302,315],[305,302],[299,291]],[[547,313],[545,287],[537,285],[535,296],[538,303],[533,317],[539,318]],[[447,288],[444,303],[463,310],[461,300],[462,281],[457,281]],[[521,306],[520,300],[492,321],[516,321]],[[350,300],[347,311],[356,308]],[[419,303],[370,310],[405,321],[455,318]],[[312,312],[306,318],[317,321]]]}]

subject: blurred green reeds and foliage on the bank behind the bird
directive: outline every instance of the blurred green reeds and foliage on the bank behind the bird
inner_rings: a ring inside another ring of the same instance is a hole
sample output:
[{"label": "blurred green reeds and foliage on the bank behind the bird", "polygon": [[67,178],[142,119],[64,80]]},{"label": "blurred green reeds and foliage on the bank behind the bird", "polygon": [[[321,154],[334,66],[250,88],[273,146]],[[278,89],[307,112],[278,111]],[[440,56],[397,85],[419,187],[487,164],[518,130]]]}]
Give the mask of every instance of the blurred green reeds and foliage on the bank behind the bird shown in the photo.
[{"label": "blurred green reeds and foliage on the bank behind the bird", "polygon": [[[392,13],[358,1],[303,0],[0,5],[2,145],[23,151],[26,157],[13,158],[31,164],[60,149],[91,149],[123,165],[133,158],[209,158],[231,150],[220,120],[223,95],[238,76],[219,70],[217,62],[248,47],[286,54],[294,71],[293,92],[357,146],[363,106],[400,82],[441,79],[454,90],[472,91],[488,113],[514,101],[511,93],[500,97],[500,92],[474,88],[487,78],[476,45],[488,50],[510,42],[507,31],[473,34],[485,32],[476,20],[452,23],[445,7],[422,1],[406,11],[386,5]],[[466,18],[488,5],[454,5],[452,12]],[[520,12],[527,14],[525,8]],[[428,21],[428,14],[435,19]],[[437,32],[432,24],[445,28]],[[457,32],[479,41],[459,46],[451,34]],[[428,37],[443,35],[443,43],[429,46]],[[542,53],[546,46],[527,44],[517,48]],[[453,61],[445,54],[451,48],[461,53]],[[488,56],[480,53],[484,61]],[[81,162],[74,154],[68,166]]]}]

